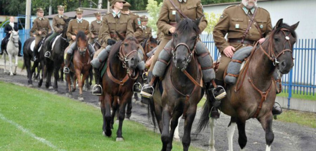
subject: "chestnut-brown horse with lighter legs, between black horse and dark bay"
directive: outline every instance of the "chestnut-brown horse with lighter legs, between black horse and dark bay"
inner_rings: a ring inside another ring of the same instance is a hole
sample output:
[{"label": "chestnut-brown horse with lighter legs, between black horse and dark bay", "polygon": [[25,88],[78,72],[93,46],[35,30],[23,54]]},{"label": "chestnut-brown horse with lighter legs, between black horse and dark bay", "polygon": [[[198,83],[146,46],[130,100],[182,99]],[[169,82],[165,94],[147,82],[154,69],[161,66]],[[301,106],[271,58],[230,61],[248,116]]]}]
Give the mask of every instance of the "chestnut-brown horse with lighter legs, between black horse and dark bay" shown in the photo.
[{"label": "chestnut-brown horse with lighter legs, between black horse and dark bay", "polygon": [[[76,43],[77,43],[78,49],[74,50],[73,59],[72,59],[73,64],[69,68],[70,72],[76,74],[76,78],[73,81],[73,90],[71,90],[70,74],[67,74],[68,93],[69,93],[69,97],[72,98],[72,92],[76,90],[76,79],[78,79],[78,87],[79,87],[78,99],[80,101],[83,101],[84,99],[82,95],[82,86],[84,85],[84,81],[89,75],[89,71],[91,69],[91,64],[90,64],[91,54],[89,54],[89,51],[87,51],[88,38],[85,35],[84,31],[79,31],[77,33]],[[64,54],[67,53],[68,49],[69,47],[65,49]],[[81,79],[81,74],[82,74],[82,79]]]}]

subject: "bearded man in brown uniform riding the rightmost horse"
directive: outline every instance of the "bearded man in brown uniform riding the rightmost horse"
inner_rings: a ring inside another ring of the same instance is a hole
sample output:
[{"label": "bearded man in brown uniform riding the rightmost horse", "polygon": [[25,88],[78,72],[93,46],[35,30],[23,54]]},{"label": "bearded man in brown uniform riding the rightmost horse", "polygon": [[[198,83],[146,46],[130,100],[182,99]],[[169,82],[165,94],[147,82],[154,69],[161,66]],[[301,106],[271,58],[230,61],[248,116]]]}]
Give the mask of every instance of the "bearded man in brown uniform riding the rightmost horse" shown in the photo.
[{"label": "bearded man in brown uniform riding the rightmost horse", "polygon": [[[251,23],[250,17],[253,16],[255,17]],[[216,71],[216,84],[224,85],[224,71],[236,51],[253,46],[257,41],[261,44],[271,30],[270,14],[267,10],[257,7],[257,0],[242,0],[239,5],[226,7],[213,31],[214,42],[222,56]],[[274,105],[272,113],[281,114],[282,109]],[[218,115],[217,109],[211,111],[211,116],[213,114]]]}]

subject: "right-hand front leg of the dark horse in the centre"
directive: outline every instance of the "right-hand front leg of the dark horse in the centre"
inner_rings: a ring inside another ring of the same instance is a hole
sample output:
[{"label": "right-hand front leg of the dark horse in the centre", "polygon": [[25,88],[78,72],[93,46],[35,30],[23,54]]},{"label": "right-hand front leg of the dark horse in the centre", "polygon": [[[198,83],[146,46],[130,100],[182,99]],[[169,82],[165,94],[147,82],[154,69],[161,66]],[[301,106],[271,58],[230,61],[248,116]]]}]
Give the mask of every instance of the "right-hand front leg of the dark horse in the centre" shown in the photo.
[{"label": "right-hand front leg of the dark horse in the centre", "polygon": [[195,118],[197,112],[197,105],[190,105],[189,109],[186,112],[185,116],[185,124],[184,124],[184,133],[182,137],[182,145],[183,145],[183,151],[188,151],[189,146],[191,143],[191,129],[192,129],[192,123]]}]

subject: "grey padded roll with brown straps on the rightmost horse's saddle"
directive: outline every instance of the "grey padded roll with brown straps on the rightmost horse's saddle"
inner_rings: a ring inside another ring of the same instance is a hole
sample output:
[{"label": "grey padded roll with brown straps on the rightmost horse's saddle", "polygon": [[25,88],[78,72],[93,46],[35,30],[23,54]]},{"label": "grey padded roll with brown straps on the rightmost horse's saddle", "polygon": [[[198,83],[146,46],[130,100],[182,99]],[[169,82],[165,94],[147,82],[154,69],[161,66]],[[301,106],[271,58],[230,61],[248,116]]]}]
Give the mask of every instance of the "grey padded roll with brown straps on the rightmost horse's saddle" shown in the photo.
[{"label": "grey padded roll with brown straps on the rightmost horse's saddle", "polygon": [[[239,60],[239,61],[243,62],[243,60],[250,55],[252,48],[253,47],[249,46],[249,47],[245,47],[245,48],[239,49],[234,54],[232,60]],[[230,73],[230,74],[233,74],[233,75],[238,75],[239,71],[240,71],[240,67],[241,67],[240,63],[231,61],[228,64],[227,73]],[[228,76],[227,75],[225,77],[225,82],[228,85],[235,84],[236,80],[237,80],[237,77],[234,77],[234,76]]]}]

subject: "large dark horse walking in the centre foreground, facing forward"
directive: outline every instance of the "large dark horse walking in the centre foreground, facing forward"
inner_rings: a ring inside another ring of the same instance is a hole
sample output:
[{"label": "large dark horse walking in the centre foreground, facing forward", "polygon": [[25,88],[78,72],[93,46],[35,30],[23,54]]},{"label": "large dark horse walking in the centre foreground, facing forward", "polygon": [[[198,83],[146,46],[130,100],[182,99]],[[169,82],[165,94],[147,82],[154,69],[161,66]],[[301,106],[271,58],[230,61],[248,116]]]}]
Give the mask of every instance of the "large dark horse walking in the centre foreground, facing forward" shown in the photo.
[{"label": "large dark horse walking in the centre foreground, facing forward", "polygon": [[154,126],[156,119],[161,132],[162,151],[172,149],[172,138],[182,114],[185,119],[183,150],[189,149],[197,104],[204,95],[202,70],[195,54],[201,18],[180,22],[179,15],[176,15],[176,20],[178,25],[173,33],[172,47],[165,48],[173,57],[162,80],[155,86],[153,100],[149,102]]}]

